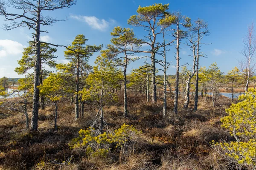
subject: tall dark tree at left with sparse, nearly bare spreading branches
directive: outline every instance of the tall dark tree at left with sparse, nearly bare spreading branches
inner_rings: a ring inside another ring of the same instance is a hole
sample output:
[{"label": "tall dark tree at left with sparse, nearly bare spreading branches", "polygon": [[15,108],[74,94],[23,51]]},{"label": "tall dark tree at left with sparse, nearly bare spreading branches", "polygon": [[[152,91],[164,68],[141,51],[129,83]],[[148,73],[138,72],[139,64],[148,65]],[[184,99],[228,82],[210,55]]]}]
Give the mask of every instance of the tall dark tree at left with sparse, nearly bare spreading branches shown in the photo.
[{"label": "tall dark tree at left with sparse, nearly bare spreading branches", "polygon": [[[8,0],[7,3],[4,0],[0,0],[0,15],[4,17],[4,20],[10,21],[10,25],[4,24],[6,30],[12,30],[20,26],[26,26],[35,32],[34,43],[36,46],[35,54],[35,69],[34,69],[34,91],[33,91],[33,105],[32,105],[32,118],[31,118],[31,130],[36,131],[38,129],[38,110],[39,110],[39,89],[40,85],[40,33],[43,31],[40,25],[51,26],[58,20],[52,17],[41,17],[42,11],[53,11],[60,8],[68,8],[76,4],[76,0]],[[13,8],[16,11],[20,11],[20,14],[9,13],[6,7]],[[47,43],[47,42],[42,42]],[[53,45],[47,43],[49,45]],[[58,45],[57,45],[58,46]]]}]

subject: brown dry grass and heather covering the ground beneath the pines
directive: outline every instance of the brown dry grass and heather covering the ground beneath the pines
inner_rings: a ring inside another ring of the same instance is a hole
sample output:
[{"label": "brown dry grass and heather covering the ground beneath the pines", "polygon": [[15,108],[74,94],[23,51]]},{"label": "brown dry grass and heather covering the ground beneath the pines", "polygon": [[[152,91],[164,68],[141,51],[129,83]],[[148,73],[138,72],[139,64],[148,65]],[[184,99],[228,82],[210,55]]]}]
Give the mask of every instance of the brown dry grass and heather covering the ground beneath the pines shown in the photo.
[{"label": "brown dry grass and heather covering the ground beneath the pines", "polygon": [[[212,150],[209,142],[233,140],[220,125],[220,116],[230,106],[221,98],[216,108],[209,101],[199,100],[198,111],[172,113],[173,101],[168,99],[168,116],[163,118],[162,101],[147,103],[140,96],[128,99],[128,118],[122,117],[122,100],[104,107],[108,128],[114,130],[124,123],[134,125],[143,134],[126,154],[110,152],[106,158],[86,157],[83,150],[70,150],[68,143],[80,129],[92,125],[98,108],[85,105],[84,119],[74,120],[70,102],[59,104],[58,131],[53,130],[53,106],[39,111],[38,132],[26,130],[22,113],[0,114],[0,169],[3,170],[226,170],[225,160]],[[192,102],[189,108],[192,108]],[[29,105],[31,108],[31,105]],[[4,109],[0,113],[6,112]],[[29,112],[31,117],[31,112]],[[44,162],[41,164],[41,162]]]}]

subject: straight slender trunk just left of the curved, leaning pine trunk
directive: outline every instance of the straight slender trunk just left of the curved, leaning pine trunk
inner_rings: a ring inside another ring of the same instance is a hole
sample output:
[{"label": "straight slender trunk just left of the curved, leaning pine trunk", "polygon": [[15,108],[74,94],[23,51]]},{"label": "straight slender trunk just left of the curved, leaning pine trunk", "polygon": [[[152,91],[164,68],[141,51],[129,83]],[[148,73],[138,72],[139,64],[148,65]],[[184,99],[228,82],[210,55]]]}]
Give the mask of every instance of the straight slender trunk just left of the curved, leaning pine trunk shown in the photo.
[{"label": "straight slender trunk just left of the curved, leaning pine trunk", "polygon": [[177,26],[177,52],[176,52],[176,81],[175,81],[175,95],[173,111],[178,114],[178,93],[179,93],[179,69],[180,69],[180,38],[179,38],[179,25]]}]

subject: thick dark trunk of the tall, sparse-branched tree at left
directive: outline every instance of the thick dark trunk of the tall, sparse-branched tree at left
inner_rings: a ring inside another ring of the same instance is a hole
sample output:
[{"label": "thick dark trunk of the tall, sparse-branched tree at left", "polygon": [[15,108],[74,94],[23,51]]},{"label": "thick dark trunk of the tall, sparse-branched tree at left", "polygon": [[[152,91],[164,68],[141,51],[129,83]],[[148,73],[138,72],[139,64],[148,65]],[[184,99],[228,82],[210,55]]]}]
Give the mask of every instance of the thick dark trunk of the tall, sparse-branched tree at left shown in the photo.
[{"label": "thick dark trunk of the tall, sparse-branched tree at left", "polygon": [[39,110],[39,89],[40,85],[40,20],[41,20],[41,11],[40,11],[41,2],[38,0],[38,12],[37,12],[37,22],[36,22],[36,31],[35,31],[35,70],[34,70],[34,91],[33,91],[33,111],[31,118],[31,130],[36,131],[38,129],[38,110]]}]

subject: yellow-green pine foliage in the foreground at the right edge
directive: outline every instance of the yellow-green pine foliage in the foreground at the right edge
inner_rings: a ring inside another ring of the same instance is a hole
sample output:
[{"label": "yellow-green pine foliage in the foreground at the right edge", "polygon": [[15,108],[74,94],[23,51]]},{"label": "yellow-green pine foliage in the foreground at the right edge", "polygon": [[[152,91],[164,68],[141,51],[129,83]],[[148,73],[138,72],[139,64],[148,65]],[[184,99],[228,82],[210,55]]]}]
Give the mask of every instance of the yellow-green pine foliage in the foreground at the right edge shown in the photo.
[{"label": "yellow-green pine foliage in the foreground at the right edge", "polygon": [[226,112],[229,114],[221,119],[223,127],[230,130],[236,142],[221,142],[219,145],[227,156],[238,164],[256,166],[256,91],[249,89],[239,96],[241,102],[232,104]]}]

